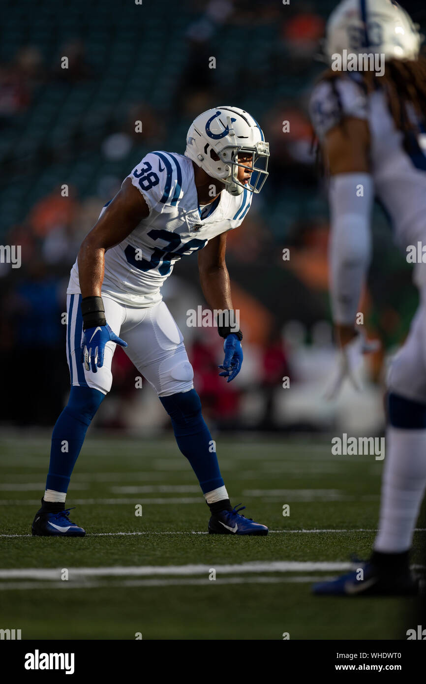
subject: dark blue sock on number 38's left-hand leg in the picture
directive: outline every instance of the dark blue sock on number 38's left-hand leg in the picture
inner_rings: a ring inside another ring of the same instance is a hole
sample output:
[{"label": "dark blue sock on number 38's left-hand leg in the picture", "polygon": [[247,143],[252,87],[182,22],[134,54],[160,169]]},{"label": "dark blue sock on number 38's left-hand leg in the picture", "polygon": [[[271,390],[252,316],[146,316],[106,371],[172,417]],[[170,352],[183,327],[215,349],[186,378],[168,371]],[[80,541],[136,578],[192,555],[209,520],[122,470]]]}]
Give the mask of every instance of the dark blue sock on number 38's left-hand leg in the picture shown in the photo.
[{"label": "dark blue sock on number 38's left-hand leg in the picture", "polygon": [[46,489],[66,492],[90,422],[105,395],[91,387],[72,386],[68,404],[55,423]]}]

